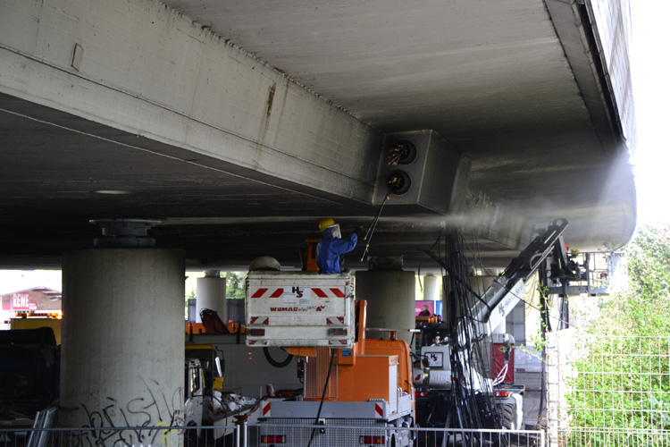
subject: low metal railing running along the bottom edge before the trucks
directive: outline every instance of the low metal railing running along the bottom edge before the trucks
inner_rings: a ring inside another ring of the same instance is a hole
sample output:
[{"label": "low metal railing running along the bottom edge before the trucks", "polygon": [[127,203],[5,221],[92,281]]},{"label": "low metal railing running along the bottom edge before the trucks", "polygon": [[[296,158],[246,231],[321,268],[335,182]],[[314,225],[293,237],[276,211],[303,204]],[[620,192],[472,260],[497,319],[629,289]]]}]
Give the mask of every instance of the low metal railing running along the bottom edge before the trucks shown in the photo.
[{"label": "low metal railing running along the bottom edge before the trucks", "polygon": [[378,425],[240,424],[0,428],[0,447],[339,447],[443,445],[544,447],[537,430],[473,430]]}]

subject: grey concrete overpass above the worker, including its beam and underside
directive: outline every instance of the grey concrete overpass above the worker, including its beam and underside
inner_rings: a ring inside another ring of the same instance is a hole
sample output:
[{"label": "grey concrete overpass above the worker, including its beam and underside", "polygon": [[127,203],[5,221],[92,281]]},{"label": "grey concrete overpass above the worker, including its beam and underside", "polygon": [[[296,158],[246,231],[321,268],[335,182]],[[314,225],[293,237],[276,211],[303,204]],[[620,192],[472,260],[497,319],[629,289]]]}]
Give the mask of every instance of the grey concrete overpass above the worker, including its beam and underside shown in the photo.
[{"label": "grey concrete overpass above the worker, including its beam and underside", "polygon": [[[627,4],[606,3],[4,0],[0,266],[151,219],[190,269],[299,268],[322,217],[366,229],[381,203],[370,254],[406,268],[454,224],[490,267],[556,217],[616,249],[634,124]],[[411,188],[384,202],[396,168]]]}]

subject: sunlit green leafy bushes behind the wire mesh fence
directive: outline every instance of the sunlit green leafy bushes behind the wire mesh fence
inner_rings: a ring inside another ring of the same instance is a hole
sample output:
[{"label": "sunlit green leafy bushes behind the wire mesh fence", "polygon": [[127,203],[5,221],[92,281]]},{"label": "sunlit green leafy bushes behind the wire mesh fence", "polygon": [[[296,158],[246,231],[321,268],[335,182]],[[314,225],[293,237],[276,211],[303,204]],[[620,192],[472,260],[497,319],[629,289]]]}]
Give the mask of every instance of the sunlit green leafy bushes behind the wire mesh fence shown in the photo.
[{"label": "sunlit green leafy bushes behind the wire mesh fence", "polygon": [[649,431],[670,429],[670,226],[641,228],[625,257],[629,290],[610,295],[579,338],[569,445],[668,443]]}]

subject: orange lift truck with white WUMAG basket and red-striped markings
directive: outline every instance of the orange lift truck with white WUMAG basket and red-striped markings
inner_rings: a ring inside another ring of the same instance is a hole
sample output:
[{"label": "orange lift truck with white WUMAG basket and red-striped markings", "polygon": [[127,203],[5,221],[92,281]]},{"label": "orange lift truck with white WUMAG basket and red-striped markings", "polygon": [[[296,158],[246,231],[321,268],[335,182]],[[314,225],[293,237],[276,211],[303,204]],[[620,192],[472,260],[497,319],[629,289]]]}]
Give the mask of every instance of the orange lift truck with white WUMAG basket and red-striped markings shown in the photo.
[{"label": "orange lift truck with white WUMAG basket and red-striped markings", "polygon": [[261,402],[260,445],[413,444],[406,342],[365,338],[366,302],[348,274],[250,272],[247,345],[282,346],[304,361],[302,395]]}]

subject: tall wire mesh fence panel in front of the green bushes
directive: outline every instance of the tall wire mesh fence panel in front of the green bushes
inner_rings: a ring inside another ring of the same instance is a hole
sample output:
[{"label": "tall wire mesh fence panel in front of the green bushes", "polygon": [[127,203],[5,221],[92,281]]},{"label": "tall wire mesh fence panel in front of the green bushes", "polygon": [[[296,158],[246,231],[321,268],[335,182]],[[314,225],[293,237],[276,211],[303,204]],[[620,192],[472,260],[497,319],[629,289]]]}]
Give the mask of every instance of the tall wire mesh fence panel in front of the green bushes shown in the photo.
[{"label": "tall wire mesh fence panel in front of the green bushes", "polygon": [[571,344],[557,444],[670,446],[670,338],[580,335]]}]

